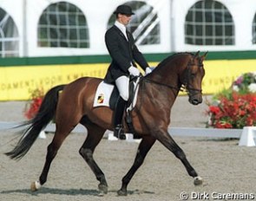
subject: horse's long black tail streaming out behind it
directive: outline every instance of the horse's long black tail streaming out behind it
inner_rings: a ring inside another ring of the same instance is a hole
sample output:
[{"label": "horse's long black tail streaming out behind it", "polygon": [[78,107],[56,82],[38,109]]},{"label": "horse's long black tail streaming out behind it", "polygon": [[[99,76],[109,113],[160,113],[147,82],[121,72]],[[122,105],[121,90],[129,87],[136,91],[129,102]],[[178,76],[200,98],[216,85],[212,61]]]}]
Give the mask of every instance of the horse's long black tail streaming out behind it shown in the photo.
[{"label": "horse's long black tail streaming out behind it", "polygon": [[41,107],[38,113],[32,120],[24,121],[21,125],[16,127],[28,126],[22,131],[22,137],[19,139],[15,148],[10,152],[5,152],[10,159],[22,159],[23,156],[29,152],[30,147],[36,141],[39,133],[45,128],[49,121],[54,118],[56,113],[56,106],[58,102],[58,93],[65,85],[59,85],[55,88],[51,88],[43,98]]}]

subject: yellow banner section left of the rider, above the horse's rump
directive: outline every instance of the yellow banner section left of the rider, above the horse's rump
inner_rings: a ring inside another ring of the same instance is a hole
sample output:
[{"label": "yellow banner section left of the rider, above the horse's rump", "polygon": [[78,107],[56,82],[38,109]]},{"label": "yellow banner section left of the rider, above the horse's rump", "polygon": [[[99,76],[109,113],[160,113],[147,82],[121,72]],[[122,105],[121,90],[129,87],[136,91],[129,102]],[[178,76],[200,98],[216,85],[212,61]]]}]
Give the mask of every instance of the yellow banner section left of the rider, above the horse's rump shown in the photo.
[{"label": "yellow banner section left of the rider, above the horse's rump", "polygon": [[108,64],[72,64],[0,68],[0,100],[28,100],[36,88],[68,84],[82,76],[103,77]]}]

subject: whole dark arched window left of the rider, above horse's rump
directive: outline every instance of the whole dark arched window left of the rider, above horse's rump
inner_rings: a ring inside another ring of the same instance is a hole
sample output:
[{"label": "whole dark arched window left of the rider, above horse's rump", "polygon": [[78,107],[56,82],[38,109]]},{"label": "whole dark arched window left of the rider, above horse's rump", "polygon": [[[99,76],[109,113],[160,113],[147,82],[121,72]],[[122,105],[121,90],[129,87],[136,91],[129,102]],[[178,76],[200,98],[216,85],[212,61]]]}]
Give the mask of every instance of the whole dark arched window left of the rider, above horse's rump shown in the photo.
[{"label": "whole dark arched window left of the rider, above horse's rump", "polygon": [[89,28],[85,16],[74,4],[50,4],[38,23],[39,47],[89,48]]}]

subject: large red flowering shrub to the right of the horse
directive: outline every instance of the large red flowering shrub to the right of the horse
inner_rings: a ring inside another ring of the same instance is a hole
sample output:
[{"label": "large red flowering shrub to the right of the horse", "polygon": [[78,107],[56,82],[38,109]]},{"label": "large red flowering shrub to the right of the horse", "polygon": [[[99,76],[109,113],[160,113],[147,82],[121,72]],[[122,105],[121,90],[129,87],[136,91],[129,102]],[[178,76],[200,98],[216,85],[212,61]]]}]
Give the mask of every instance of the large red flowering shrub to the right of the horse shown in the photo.
[{"label": "large red flowering shrub to the right of the horse", "polygon": [[243,128],[256,125],[256,74],[246,73],[233,81],[231,88],[208,102],[207,127]]}]

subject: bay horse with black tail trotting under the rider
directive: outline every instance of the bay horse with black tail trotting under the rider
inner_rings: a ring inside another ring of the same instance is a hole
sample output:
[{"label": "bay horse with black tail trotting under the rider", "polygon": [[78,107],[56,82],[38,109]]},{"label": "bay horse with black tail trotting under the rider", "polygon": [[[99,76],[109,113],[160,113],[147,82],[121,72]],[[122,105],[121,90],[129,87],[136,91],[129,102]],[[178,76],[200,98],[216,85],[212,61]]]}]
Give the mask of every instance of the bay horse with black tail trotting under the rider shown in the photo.
[{"label": "bay horse with black tail trotting under the rider", "polygon": [[[141,136],[141,142],[134,164],[121,180],[118,195],[127,195],[131,178],[142,165],[156,140],[181,160],[188,175],[194,178],[194,185],[202,184],[202,178],[187,161],[185,153],[174,142],[167,128],[170,124],[171,108],[181,88],[187,91],[191,104],[198,105],[202,102],[201,83],[205,75],[203,61],[206,56],[207,53],[200,56],[200,52],[170,55],[160,62],[151,74],[141,77],[137,103],[131,112],[135,132]],[[56,132],[47,148],[43,172],[39,180],[32,183],[32,191],[38,190],[46,182],[51,162],[56,157],[63,140],[80,123],[87,128],[88,134],[79,153],[99,181],[100,193],[108,193],[105,175],[93,158],[95,147],[100,143],[105,131],[113,130],[114,127],[113,111],[109,107],[93,107],[95,90],[101,81],[102,79],[99,78],[82,77],[67,85],[51,88],[45,94],[36,117],[20,125],[24,126],[21,139],[12,151],[5,153],[11,159],[23,158],[36,141],[40,131],[49,124],[50,120],[55,118],[56,121]],[[62,93],[59,93],[61,91]],[[127,125],[125,130],[128,132]]]}]

